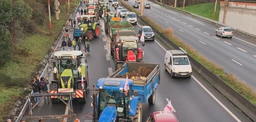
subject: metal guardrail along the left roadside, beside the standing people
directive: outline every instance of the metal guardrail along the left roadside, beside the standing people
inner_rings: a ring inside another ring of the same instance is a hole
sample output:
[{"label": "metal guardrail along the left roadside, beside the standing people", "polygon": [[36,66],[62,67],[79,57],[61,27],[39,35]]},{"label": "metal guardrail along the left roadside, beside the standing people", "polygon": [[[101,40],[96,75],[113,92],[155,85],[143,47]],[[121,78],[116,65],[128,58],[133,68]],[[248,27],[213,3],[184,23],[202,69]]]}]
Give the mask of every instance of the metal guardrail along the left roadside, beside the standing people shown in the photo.
[{"label": "metal guardrail along the left roadside, beside the standing people", "polygon": [[[77,7],[76,7],[76,9],[75,9],[75,11],[74,11],[74,13],[73,13],[73,15],[71,16],[72,18],[76,16],[76,10],[77,10],[78,7],[79,7],[79,4],[77,5]],[[65,34],[65,33],[62,34],[62,36],[61,36],[61,38],[60,38],[58,44],[56,45],[56,47],[55,47],[55,49],[54,49],[54,52],[57,51],[60,42],[63,40],[64,34]],[[52,55],[51,55],[50,58],[53,57],[54,52],[52,53]],[[40,75],[40,78],[45,75],[46,69],[48,69],[48,66],[50,65],[49,63],[50,63],[50,62],[48,62],[48,63],[45,65],[44,70],[43,70],[43,72],[42,72],[41,75]],[[31,91],[30,94],[33,94],[33,91]],[[26,108],[28,107],[28,104],[29,104],[29,99],[26,100],[26,102],[25,102],[25,104],[24,104],[24,106],[23,106],[23,108],[22,108],[22,110],[21,110],[19,116],[18,116],[17,119],[15,120],[15,122],[20,122],[20,121],[21,121],[21,119],[22,119],[24,113],[26,112]]]}]

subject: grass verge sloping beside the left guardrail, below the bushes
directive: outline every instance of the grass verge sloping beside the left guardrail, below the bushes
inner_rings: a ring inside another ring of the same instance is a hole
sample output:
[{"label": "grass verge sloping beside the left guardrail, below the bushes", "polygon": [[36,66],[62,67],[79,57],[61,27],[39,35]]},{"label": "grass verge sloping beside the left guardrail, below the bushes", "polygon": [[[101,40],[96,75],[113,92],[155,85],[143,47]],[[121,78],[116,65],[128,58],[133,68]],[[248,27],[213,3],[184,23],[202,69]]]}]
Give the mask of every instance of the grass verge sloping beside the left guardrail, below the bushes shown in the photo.
[{"label": "grass verge sloping beside the left guardrail, below the bushes", "polygon": [[[70,1],[70,9],[68,13],[73,11],[73,8],[78,5],[79,1]],[[69,15],[66,14],[66,6],[60,5],[62,12],[59,14],[59,20],[56,20],[56,16],[52,18],[52,35],[49,35],[49,18],[44,21],[44,26],[38,26],[40,32],[28,36],[18,47],[18,52],[13,57],[14,60],[7,63],[0,69],[0,75],[3,76],[0,82],[8,81],[8,86],[17,87],[4,87],[0,85],[0,122],[6,119],[8,113],[12,109],[14,103],[18,98],[24,97],[24,85],[26,82],[31,81],[31,77],[36,72],[37,67],[40,66],[40,62],[44,59],[50,51],[50,47],[57,39],[60,31],[63,29]],[[10,97],[11,96],[11,97]]]}]

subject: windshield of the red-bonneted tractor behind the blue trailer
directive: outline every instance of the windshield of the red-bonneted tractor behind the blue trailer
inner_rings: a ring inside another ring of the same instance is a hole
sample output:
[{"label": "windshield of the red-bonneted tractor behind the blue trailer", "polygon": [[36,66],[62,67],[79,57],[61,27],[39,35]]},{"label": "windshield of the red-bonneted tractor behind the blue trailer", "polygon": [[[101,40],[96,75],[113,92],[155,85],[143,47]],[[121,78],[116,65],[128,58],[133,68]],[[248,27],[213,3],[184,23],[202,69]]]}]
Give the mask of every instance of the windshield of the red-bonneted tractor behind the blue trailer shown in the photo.
[{"label": "windshield of the red-bonneted tractor behind the blue trailer", "polygon": [[137,43],[132,41],[132,42],[125,42],[123,43],[123,59],[126,60],[127,53],[129,50],[132,50],[132,52],[136,55],[138,53],[138,47]]}]

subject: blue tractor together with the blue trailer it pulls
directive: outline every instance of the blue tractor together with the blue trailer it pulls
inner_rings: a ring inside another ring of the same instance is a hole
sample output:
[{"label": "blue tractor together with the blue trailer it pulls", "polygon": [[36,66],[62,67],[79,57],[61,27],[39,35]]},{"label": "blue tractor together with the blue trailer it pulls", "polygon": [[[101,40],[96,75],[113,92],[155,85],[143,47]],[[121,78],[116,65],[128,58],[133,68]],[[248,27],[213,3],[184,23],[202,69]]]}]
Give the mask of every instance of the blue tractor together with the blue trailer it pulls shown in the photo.
[{"label": "blue tractor together with the blue trailer it pulls", "polygon": [[[150,67],[152,72],[142,79],[128,79],[129,91],[124,91],[126,78],[119,76],[138,70],[139,67]],[[156,87],[160,83],[160,64],[127,62],[107,78],[97,81],[99,88],[94,91],[94,119],[97,122],[142,122],[142,105],[148,101],[155,103]],[[87,88],[88,89],[88,88]],[[97,96],[97,97],[96,97]]]}]

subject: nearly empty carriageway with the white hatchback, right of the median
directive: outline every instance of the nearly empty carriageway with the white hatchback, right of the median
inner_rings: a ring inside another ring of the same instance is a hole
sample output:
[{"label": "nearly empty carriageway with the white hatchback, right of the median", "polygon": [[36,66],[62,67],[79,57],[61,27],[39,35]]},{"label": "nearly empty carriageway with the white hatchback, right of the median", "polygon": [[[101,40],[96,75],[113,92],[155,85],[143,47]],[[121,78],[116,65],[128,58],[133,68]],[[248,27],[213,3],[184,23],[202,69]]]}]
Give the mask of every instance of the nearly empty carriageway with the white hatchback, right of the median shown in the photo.
[{"label": "nearly empty carriageway with the white hatchback, right of the median", "polygon": [[[125,1],[129,5],[134,0]],[[174,34],[192,46],[207,59],[220,64],[226,72],[233,72],[249,85],[256,87],[256,41],[234,33],[233,38],[215,36],[219,27],[192,18],[189,15],[150,3],[143,15],[164,28],[172,28]],[[137,8],[136,8],[137,9]],[[139,10],[139,9],[137,9]]]}]

